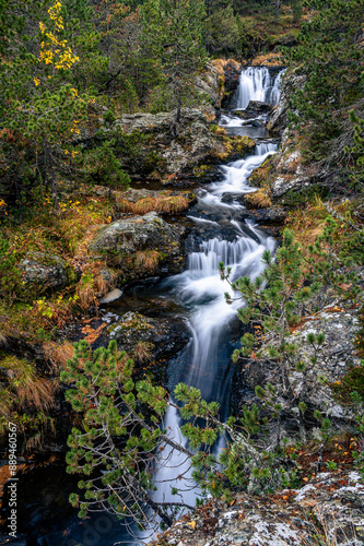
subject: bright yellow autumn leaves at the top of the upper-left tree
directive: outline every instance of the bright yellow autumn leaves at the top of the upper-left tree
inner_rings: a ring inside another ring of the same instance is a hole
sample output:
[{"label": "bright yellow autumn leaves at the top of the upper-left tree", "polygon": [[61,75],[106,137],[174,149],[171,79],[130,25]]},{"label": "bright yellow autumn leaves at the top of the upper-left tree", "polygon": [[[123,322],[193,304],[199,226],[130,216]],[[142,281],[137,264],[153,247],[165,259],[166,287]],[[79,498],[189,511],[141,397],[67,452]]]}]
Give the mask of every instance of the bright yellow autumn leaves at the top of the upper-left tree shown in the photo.
[{"label": "bright yellow autumn leaves at the top of the upper-left tree", "polygon": [[[64,28],[61,9],[61,2],[57,1],[48,10],[49,17],[54,25],[52,29],[47,29],[43,22],[39,23],[39,29],[43,36],[39,52],[40,61],[45,64],[52,64],[57,70],[70,69],[80,60],[67,45],[67,40],[60,39],[59,33]],[[38,85],[35,80],[34,83]]]}]

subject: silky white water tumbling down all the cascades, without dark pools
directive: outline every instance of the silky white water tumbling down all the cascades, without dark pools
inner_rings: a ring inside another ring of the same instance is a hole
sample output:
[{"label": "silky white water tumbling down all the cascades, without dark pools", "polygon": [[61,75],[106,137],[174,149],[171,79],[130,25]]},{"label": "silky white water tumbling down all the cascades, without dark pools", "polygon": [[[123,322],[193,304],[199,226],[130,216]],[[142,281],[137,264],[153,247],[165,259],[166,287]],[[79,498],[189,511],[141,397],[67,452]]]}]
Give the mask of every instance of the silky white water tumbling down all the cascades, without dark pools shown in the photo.
[{"label": "silky white water tumbling down all the cascades, without dark pools", "polygon": [[[267,69],[250,68],[242,74],[239,92],[240,107],[246,107],[250,99],[277,104],[279,81],[272,81]],[[274,239],[244,219],[245,207],[238,198],[256,191],[249,185],[249,177],[275,151],[275,143],[257,144],[253,155],[221,167],[220,181],[198,190],[195,215],[192,212],[188,218],[196,223],[197,229],[208,229],[208,233],[212,230],[213,236],[200,242],[199,249],[189,254],[184,273],[163,282],[164,288],[188,310],[187,320],[191,333],[190,343],[179,358],[179,366],[169,370],[172,395],[173,387],[178,382],[196,387],[208,402],[214,400],[220,403],[222,419],[228,414],[231,325],[237,320],[236,312],[243,302],[237,299],[231,305],[226,304],[224,294],[231,292],[231,288],[220,277],[219,263],[224,262],[225,266],[231,268],[231,280],[244,275],[255,278],[263,271],[261,258],[265,250],[274,250]],[[228,238],[224,237],[226,229]],[[163,428],[187,447],[180,426],[178,412],[169,407]],[[214,448],[215,454],[222,448],[222,440],[219,440]],[[193,506],[199,491],[193,487],[186,455],[166,448],[160,455],[158,463],[153,476],[157,487],[153,499],[183,500]],[[178,488],[180,492],[173,496],[173,488]],[[140,535],[140,539],[143,537],[145,535]]]}]

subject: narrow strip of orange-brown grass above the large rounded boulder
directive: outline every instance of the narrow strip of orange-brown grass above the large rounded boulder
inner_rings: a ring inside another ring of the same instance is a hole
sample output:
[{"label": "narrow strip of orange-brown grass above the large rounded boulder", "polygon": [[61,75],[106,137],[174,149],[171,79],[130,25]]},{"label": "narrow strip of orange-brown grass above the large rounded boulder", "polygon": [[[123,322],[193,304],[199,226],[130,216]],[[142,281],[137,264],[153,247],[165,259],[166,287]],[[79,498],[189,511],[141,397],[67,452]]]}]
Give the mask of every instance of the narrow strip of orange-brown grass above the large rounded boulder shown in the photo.
[{"label": "narrow strip of orange-brown grass above the large rounded boulder", "polygon": [[139,199],[136,203],[121,200],[118,206],[124,212],[143,215],[151,211],[162,214],[178,214],[187,211],[188,204],[188,199],[184,195],[160,195],[157,198]]}]

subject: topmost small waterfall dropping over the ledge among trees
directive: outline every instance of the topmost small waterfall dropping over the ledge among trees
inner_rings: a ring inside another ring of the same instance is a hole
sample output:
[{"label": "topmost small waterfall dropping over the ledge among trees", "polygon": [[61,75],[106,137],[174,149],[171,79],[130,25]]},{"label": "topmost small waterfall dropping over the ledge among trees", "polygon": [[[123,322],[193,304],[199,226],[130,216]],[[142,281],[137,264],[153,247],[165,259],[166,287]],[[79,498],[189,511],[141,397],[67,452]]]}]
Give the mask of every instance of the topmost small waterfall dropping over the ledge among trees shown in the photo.
[{"label": "topmost small waterfall dropping over the ledge among trees", "polygon": [[250,100],[278,105],[282,72],[271,78],[267,67],[248,67],[243,70],[238,88],[238,108],[247,108]]}]

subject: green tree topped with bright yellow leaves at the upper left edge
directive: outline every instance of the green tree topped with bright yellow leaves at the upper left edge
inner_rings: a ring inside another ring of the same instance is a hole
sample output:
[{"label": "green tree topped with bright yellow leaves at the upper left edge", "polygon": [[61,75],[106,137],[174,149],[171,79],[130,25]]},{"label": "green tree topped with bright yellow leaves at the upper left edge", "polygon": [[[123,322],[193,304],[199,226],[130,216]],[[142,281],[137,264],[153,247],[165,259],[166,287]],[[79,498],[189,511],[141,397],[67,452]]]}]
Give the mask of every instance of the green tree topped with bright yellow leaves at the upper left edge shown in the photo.
[{"label": "green tree topped with bright yellow leaves at the upper left edge", "polygon": [[1,64],[1,189],[20,211],[45,188],[58,207],[58,178],[78,154],[74,140],[94,100],[71,83],[78,62],[56,1],[39,22],[37,55],[21,52]]}]

